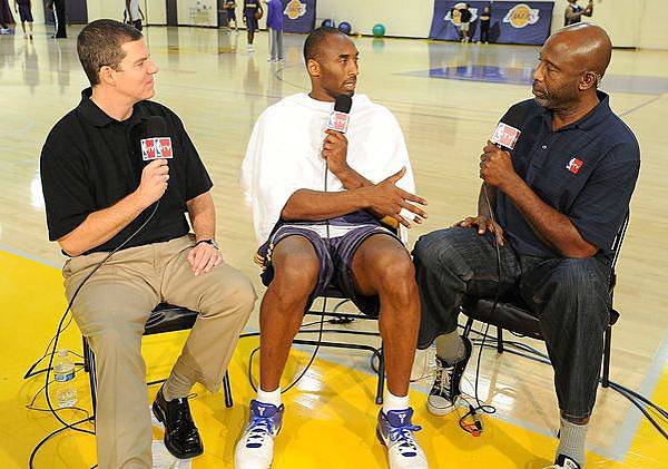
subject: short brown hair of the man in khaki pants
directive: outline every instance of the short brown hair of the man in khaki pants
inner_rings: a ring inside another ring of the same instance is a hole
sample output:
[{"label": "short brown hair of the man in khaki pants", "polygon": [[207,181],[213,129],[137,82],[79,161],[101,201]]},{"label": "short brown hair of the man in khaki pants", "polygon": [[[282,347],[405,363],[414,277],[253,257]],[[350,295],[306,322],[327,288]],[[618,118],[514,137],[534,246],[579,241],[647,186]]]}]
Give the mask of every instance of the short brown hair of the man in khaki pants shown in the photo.
[{"label": "short brown hair of the man in khaki pants", "polygon": [[125,58],[120,48],[126,42],[137,41],[144,36],[130,25],[116,20],[95,20],[79,32],[77,53],[91,86],[100,82],[100,68],[118,68]]}]

